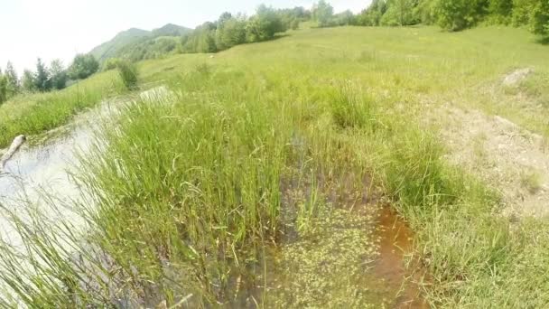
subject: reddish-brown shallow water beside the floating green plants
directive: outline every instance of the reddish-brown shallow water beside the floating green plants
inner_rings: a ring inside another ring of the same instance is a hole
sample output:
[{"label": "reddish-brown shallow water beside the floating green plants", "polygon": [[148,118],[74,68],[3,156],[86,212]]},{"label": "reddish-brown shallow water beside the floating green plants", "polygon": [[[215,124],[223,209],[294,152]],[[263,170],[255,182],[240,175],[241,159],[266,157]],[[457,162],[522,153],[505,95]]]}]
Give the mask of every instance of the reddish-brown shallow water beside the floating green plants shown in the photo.
[{"label": "reddish-brown shallow water beside the floating green plants", "polygon": [[377,228],[380,257],[374,266],[374,272],[384,278],[388,286],[401,286],[395,297],[395,307],[430,308],[423,299],[419,286],[414,282],[423,276],[423,271],[419,269],[414,272],[414,276],[410,276],[411,271],[405,267],[405,254],[414,249],[412,229],[389,206],[379,210]]}]

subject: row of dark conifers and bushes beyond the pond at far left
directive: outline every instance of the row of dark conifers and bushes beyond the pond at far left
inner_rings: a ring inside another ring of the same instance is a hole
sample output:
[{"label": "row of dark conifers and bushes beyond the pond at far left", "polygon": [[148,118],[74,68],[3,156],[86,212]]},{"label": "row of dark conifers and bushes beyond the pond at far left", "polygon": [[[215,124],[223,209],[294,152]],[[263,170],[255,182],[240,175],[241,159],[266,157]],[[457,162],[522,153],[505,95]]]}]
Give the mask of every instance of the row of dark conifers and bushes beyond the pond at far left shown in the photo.
[{"label": "row of dark conifers and bushes beyond the pond at far left", "polygon": [[47,66],[42,59],[36,61],[36,69],[24,70],[21,78],[8,61],[5,70],[0,69],[0,104],[20,93],[46,92],[64,89],[70,80],[84,80],[98,71],[99,62],[90,54],[78,54],[68,68],[59,59]]}]

